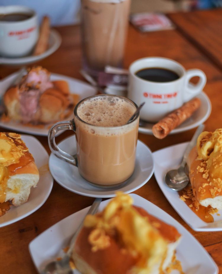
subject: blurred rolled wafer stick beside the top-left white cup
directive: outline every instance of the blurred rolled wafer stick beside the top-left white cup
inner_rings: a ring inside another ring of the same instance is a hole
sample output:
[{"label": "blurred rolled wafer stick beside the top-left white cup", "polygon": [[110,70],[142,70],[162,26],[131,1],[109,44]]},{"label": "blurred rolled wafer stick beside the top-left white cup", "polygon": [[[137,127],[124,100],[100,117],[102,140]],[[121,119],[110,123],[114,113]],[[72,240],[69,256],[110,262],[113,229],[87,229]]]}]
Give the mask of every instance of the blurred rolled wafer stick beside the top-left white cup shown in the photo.
[{"label": "blurred rolled wafer stick beside the top-left white cup", "polygon": [[45,52],[48,48],[50,34],[50,20],[48,16],[44,16],[40,26],[40,32],[36,47],[34,49],[33,55],[39,55]]}]

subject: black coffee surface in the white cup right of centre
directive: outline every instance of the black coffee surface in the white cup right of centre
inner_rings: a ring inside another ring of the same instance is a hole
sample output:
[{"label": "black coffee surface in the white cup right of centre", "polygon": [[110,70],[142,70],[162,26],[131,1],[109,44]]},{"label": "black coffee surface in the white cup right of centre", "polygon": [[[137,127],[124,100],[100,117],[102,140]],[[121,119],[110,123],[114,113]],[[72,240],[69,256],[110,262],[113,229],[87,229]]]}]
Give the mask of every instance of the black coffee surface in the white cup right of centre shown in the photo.
[{"label": "black coffee surface in the white cup right of centre", "polygon": [[136,76],[151,82],[171,82],[179,79],[179,75],[167,68],[143,68],[137,71]]}]

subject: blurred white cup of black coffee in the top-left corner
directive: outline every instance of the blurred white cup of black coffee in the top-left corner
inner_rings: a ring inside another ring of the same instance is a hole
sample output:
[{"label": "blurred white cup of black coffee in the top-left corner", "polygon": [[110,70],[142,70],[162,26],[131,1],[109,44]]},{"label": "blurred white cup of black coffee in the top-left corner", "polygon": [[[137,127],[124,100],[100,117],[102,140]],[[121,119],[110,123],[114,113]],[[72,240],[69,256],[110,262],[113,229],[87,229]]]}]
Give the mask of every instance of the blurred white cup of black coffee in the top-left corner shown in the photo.
[{"label": "blurred white cup of black coffee in the top-left corner", "polygon": [[[21,15],[23,17],[27,15],[27,18],[24,18],[23,20],[12,19],[13,21],[9,21],[9,16],[13,15],[14,17],[15,15]],[[0,7],[1,56],[26,56],[32,52],[37,40],[38,17],[35,11],[24,6]]]}]

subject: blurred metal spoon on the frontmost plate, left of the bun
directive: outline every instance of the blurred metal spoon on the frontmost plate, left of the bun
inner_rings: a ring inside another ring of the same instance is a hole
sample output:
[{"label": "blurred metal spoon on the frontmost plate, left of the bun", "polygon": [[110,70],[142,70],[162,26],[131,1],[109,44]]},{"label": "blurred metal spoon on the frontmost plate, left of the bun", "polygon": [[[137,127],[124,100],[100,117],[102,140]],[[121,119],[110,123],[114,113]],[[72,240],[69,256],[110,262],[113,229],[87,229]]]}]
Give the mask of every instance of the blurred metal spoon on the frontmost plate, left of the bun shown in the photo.
[{"label": "blurred metal spoon on the frontmost plate, left of the bun", "polygon": [[[89,211],[87,212],[87,214],[95,214],[96,211],[98,210],[98,207],[101,201],[102,201],[102,198],[96,198],[93,204],[91,205],[91,207],[89,208]],[[65,256],[59,261],[55,260],[50,262],[48,265],[46,265],[44,270],[41,271],[41,274],[72,274],[73,273],[73,270],[70,267],[69,261],[73,251],[75,240],[81,228],[83,227],[83,221],[81,222],[73,238],[71,239],[69,249],[66,252]]]}]

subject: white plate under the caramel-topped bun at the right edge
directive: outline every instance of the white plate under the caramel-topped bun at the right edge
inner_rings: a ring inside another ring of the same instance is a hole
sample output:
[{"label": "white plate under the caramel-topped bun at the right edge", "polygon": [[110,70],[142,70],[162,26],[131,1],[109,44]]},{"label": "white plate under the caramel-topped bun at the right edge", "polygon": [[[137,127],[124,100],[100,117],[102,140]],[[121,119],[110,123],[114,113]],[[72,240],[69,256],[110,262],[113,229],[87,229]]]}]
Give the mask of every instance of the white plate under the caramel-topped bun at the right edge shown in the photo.
[{"label": "white plate under the caramel-topped bun at the right edge", "polygon": [[165,173],[170,169],[177,168],[182,162],[187,145],[188,142],[185,142],[153,152],[155,163],[154,175],[157,183],[171,206],[173,206],[176,212],[193,230],[222,231],[222,211],[218,211],[221,216],[217,216],[217,214],[213,215],[214,222],[206,223],[180,199],[176,190],[170,189],[164,182]]}]

